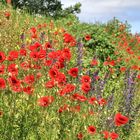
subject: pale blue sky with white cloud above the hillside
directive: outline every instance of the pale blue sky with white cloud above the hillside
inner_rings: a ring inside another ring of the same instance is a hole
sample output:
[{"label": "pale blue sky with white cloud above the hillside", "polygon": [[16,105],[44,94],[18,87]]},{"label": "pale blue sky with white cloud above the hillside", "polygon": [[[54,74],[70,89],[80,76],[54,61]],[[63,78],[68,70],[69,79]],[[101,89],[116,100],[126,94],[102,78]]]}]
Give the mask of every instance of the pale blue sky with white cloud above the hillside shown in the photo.
[{"label": "pale blue sky with white cloud above the hillside", "polygon": [[140,32],[140,0],[61,0],[63,7],[82,4],[80,21],[105,23],[113,17],[120,21],[128,21],[132,33]]}]

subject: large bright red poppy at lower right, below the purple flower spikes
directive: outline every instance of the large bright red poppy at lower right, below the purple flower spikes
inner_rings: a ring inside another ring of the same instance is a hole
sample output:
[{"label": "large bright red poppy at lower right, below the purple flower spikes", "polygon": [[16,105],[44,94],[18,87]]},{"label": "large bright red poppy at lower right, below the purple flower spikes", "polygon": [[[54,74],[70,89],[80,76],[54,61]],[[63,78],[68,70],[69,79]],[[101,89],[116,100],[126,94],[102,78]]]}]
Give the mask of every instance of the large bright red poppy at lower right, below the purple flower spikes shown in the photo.
[{"label": "large bright red poppy at lower right, below the purple flower spikes", "polygon": [[117,113],[115,115],[114,121],[115,121],[116,126],[121,126],[128,123],[129,118],[127,118],[126,116],[123,116],[121,113]]}]

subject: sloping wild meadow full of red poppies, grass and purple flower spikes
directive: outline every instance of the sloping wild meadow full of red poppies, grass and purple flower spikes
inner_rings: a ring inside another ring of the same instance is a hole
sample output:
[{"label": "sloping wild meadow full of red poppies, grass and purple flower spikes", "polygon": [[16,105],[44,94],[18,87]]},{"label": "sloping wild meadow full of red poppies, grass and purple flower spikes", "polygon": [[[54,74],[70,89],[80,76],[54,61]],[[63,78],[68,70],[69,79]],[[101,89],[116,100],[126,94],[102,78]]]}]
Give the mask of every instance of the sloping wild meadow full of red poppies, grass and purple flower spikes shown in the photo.
[{"label": "sloping wild meadow full of red poppies, grass and purple flower spikes", "polygon": [[0,140],[139,140],[139,101],[140,36],[127,23],[0,3]]}]

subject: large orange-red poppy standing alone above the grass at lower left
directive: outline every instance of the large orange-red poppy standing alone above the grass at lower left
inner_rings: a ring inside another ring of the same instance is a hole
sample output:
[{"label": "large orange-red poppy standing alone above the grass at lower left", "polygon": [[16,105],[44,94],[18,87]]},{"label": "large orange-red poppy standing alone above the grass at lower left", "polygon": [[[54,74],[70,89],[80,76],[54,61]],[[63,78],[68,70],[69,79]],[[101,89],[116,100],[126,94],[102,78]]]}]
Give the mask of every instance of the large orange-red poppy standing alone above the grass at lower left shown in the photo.
[{"label": "large orange-red poppy standing alone above the grass at lower left", "polygon": [[53,96],[44,96],[38,99],[38,105],[42,107],[49,106],[54,101]]}]

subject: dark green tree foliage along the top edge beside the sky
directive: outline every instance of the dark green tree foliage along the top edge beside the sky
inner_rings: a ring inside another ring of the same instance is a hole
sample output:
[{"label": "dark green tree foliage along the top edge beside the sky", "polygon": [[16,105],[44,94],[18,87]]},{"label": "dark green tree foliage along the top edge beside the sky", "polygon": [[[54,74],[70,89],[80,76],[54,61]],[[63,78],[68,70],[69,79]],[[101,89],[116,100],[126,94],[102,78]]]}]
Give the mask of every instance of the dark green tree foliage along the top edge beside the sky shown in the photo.
[{"label": "dark green tree foliage along the top edge beside the sky", "polygon": [[63,9],[59,0],[14,0],[12,5],[14,8],[27,9],[31,14],[43,14],[55,18],[80,13],[81,7],[81,4],[77,3]]}]

